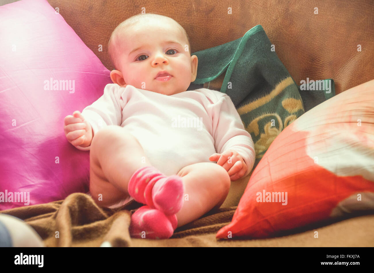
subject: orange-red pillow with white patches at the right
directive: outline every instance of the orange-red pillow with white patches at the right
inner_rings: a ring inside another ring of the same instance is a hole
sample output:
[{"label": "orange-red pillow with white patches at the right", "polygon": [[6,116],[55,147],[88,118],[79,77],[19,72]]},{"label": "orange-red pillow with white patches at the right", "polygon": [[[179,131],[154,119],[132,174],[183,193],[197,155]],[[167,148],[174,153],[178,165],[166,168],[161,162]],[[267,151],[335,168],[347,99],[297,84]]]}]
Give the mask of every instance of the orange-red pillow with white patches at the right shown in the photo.
[{"label": "orange-red pillow with white patches at the right", "polygon": [[217,238],[266,238],[374,211],[374,80],[288,125]]}]

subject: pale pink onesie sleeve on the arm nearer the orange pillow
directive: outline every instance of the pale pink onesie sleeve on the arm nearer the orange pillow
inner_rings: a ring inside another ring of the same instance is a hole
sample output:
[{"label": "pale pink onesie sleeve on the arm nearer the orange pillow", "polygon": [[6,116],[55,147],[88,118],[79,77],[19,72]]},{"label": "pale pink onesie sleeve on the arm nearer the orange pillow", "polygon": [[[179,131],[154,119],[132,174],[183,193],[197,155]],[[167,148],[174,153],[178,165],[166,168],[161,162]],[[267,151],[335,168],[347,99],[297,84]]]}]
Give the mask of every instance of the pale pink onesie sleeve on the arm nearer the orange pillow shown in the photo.
[{"label": "pale pink onesie sleeve on the arm nearer the orange pillow", "polygon": [[[251,172],[255,162],[254,143],[244,129],[239,113],[228,95],[221,97],[213,107],[213,137],[217,153],[234,150],[247,166],[244,176]],[[243,177],[244,177],[243,176]]]}]

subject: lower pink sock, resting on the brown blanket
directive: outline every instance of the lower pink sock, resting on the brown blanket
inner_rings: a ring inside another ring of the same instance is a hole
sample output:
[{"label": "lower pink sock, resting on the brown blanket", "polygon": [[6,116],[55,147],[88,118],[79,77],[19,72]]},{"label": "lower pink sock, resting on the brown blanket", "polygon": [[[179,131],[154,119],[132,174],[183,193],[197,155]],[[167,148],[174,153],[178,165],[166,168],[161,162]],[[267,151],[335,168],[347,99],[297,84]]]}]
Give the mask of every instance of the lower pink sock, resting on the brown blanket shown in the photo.
[{"label": "lower pink sock, resting on the brown blanket", "polygon": [[132,214],[129,232],[133,238],[168,239],[177,225],[175,214],[166,216],[162,211],[142,206]]}]

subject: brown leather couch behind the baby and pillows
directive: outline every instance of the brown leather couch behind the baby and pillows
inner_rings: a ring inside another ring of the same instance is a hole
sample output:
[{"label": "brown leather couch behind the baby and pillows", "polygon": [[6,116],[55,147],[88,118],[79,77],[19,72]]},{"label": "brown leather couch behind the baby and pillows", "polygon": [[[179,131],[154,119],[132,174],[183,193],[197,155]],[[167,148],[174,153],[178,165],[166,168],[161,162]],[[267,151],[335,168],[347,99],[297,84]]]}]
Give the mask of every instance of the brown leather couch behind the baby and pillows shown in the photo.
[{"label": "brown leather couch behind the baby and pillows", "polygon": [[[371,0],[344,1],[85,1],[48,0],[52,7],[112,70],[107,44],[113,29],[132,15],[152,12],[169,16],[187,31],[191,52],[236,40],[255,25],[262,25],[275,45],[279,59],[298,83],[302,79],[335,81],[336,94],[373,79],[374,4]],[[232,14],[228,14],[231,8]],[[318,8],[318,14],[317,9]],[[99,45],[103,50],[99,51]],[[361,51],[358,47],[361,45]],[[250,176],[250,175],[249,175]],[[239,203],[249,176],[233,182],[222,207]],[[374,216],[349,219],[325,227],[324,238],[302,233],[270,240],[250,241],[248,246],[361,246],[374,245]],[[367,229],[362,229],[365,225]],[[371,227],[371,228],[370,228]],[[347,232],[354,234],[348,237]],[[369,237],[368,234],[371,234]],[[364,239],[366,237],[366,239]],[[214,235],[209,238],[214,238]],[[365,240],[365,244],[362,244]],[[296,243],[297,242],[297,243]],[[170,245],[170,244],[169,244]]]}]

